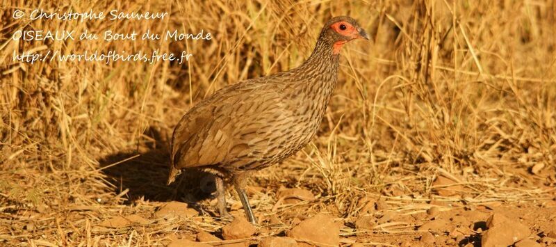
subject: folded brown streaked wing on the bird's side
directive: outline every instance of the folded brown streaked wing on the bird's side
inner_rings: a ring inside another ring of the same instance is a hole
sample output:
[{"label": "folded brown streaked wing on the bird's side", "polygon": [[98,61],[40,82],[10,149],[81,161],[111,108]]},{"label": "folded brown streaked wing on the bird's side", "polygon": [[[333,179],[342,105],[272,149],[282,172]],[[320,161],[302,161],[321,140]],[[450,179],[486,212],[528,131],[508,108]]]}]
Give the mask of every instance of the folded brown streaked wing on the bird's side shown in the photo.
[{"label": "folded brown streaked wing on the bird's side", "polygon": [[175,168],[251,164],[268,151],[268,136],[292,117],[272,84],[224,88],[180,120],[172,137],[172,164]]}]

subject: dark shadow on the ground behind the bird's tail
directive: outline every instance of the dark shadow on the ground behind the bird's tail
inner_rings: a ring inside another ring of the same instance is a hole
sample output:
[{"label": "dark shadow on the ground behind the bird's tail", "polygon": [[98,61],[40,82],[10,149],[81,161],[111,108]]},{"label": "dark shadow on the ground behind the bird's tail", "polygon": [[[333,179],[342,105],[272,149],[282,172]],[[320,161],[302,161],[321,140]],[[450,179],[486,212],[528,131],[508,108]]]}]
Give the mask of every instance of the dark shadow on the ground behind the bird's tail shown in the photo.
[{"label": "dark shadow on the ground behind the bird's tail", "polygon": [[214,176],[199,170],[184,170],[177,180],[166,185],[170,154],[167,141],[154,127],[144,133],[147,150],[122,151],[102,158],[101,172],[107,181],[114,185],[115,193],[126,198],[124,203],[135,200],[166,202],[179,200],[195,204],[200,200],[213,197]]}]

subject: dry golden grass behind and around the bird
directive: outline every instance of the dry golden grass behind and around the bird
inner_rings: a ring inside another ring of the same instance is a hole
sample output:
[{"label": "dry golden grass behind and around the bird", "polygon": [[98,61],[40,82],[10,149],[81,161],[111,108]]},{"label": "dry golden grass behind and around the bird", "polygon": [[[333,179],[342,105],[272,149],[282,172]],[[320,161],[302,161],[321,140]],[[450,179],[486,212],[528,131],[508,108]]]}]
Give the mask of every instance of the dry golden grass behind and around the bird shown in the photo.
[{"label": "dry golden grass behind and around the bird", "polygon": [[[358,19],[373,33],[373,42],[345,46],[340,83],[318,138],[250,182],[263,188],[252,196],[256,214],[285,215],[303,207],[350,221],[363,196],[384,196],[393,210],[410,214],[424,210],[423,202],[443,199],[431,193],[437,175],[464,185],[461,198],[444,198],[458,203],[527,202],[554,193],[554,1],[23,2],[0,6],[0,243],[151,246],[167,243],[171,235],[218,230],[222,223],[208,214],[116,230],[96,225],[118,215],[149,218],[163,201],[206,197],[198,192],[204,176],[164,184],[172,127],[192,104],[222,86],[302,63],[322,23],[333,15]],[[117,8],[166,11],[171,17],[163,22],[15,21],[15,8]],[[204,29],[215,38],[11,40],[20,29]],[[12,60],[14,51],[33,49],[188,50],[194,55],[184,65]],[[543,169],[531,175],[536,164]],[[318,199],[276,208],[280,186],[310,189]],[[205,212],[211,210],[209,201],[196,205]],[[232,200],[232,207],[237,203]],[[391,227],[395,234],[396,226]],[[263,236],[284,227],[270,229]],[[347,227],[343,231],[352,235]]]}]

